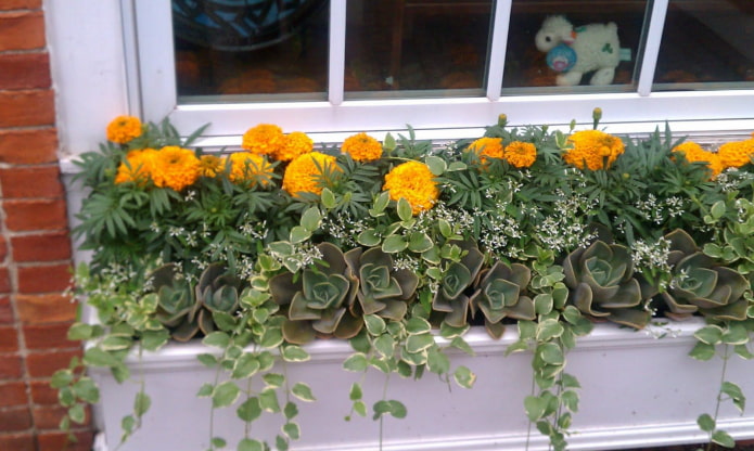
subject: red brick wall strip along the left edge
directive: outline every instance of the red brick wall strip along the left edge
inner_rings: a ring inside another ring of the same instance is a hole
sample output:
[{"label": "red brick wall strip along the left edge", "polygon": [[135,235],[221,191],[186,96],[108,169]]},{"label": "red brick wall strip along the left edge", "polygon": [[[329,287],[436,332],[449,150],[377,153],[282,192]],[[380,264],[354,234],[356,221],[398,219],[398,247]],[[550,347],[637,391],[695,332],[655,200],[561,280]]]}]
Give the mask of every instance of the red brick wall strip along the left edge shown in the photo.
[{"label": "red brick wall strip along the left edge", "polygon": [[[0,451],[60,451],[71,244],[41,0],[0,0]],[[91,449],[89,427],[75,429]]]}]

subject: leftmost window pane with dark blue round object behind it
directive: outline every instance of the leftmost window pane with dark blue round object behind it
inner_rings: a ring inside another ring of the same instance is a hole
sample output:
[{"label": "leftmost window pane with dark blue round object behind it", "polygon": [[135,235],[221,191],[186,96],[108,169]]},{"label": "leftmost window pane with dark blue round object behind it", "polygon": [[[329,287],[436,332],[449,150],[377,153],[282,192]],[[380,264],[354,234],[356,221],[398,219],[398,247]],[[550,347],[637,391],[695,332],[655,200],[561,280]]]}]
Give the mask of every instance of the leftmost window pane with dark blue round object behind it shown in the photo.
[{"label": "leftmost window pane with dark blue round object behind it", "polygon": [[327,0],[172,0],[178,99],[323,100]]}]

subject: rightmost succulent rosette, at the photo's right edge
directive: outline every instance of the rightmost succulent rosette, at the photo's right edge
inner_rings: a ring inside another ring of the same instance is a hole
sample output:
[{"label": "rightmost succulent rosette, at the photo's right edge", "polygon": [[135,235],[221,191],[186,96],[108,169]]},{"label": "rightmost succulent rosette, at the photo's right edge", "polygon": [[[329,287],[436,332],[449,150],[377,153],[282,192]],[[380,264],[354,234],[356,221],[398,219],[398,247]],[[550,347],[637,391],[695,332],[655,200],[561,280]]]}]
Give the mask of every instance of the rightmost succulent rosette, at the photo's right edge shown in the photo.
[{"label": "rightmost succulent rosette, at the photo's right edge", "polygon": [[665,239],[670,242],[668,263],[673,267],[673,280],[662,293],[670,310],[666,314],[683,319],[699,312],[716,320],[745,320],[746,279],[733,269],[717,266],[683,230],[674,230]]}]

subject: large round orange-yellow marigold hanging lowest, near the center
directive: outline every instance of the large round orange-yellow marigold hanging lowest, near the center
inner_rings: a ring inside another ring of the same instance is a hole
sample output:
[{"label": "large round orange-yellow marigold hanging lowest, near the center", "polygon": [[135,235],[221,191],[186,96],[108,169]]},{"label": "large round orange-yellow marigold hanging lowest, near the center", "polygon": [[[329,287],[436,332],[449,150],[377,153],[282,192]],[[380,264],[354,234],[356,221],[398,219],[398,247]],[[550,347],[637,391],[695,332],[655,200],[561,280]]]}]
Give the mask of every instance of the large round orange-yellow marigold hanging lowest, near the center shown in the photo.
[{"label": "large round orange-yellow marigold hanging lowest, near the center", "polygon": [[437,183],[429,166],[421,162],[407,162],[396,166],[385,175],[384,191],[389,191],[391,198],[405,198],[411,205],[411,211],[418,215],[429,210],[439,197]]}]

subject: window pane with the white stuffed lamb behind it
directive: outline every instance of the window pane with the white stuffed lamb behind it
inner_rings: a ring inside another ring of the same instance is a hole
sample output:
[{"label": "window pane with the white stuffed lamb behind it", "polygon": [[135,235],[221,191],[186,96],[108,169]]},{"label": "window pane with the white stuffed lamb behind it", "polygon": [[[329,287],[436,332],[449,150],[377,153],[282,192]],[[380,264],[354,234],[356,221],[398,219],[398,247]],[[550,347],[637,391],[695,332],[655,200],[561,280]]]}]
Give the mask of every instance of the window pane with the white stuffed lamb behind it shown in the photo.
[{"label": "window pane with the white stuffed lamb behind it", "polygon": [[647,3],[513,0],[502,92],[634,90]]}]

